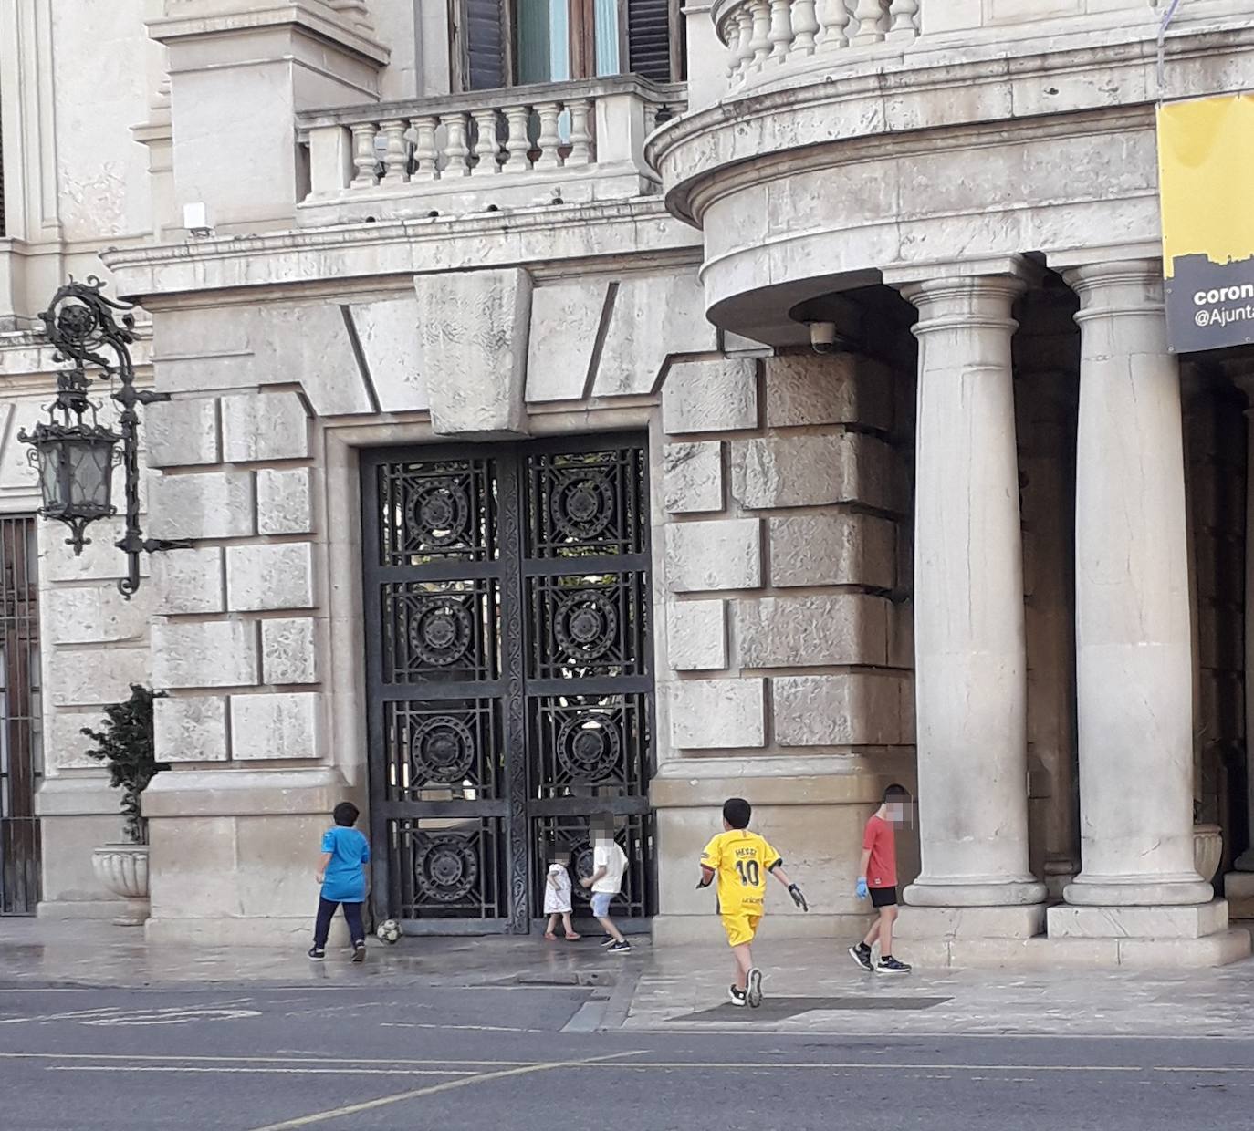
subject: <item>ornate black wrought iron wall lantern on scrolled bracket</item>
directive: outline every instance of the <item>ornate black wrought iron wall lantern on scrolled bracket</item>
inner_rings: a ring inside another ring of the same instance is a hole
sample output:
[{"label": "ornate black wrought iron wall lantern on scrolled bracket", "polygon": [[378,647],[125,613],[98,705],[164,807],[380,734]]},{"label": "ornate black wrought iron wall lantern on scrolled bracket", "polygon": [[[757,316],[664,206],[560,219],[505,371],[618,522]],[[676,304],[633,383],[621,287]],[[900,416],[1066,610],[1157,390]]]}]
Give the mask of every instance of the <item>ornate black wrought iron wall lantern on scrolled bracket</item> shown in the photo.
[{"label": "ornate black wrought iron wall lantern on scrolled bracket", "polygon": [[[139,415],[135,405],[169,400],[168,392],[135,389],[135,370],[129,345],[134,341],[132,307],[105,298],[104,283],[73,278],[61,287],[39,317],[44,336],[55,349],[55,361],[71,369],[58,374],[56,399],[46,406],[48,420],[34,430],[23,429],[18,439],[30,444],[30,463],[39,470],[44,505],[39,513],[70,528],[66,545],[74,553],[92,539],[87,528],[98,518],[118,513],[113,504],[113,469],[123,465],[125,532],[117,547],[129,558],[127,576],[118,588],[129,598],[139,588],[139,555],[153,550],[181,549],[188,543],[144,538],[139,527]],[[120,324],[114,311],[122,312]],[[118,429],[98,419],[100,405],[89,396],[92,377],[115,385],[110,394],[120,408]],[[122,445],[120,451],[118,445]]]}]

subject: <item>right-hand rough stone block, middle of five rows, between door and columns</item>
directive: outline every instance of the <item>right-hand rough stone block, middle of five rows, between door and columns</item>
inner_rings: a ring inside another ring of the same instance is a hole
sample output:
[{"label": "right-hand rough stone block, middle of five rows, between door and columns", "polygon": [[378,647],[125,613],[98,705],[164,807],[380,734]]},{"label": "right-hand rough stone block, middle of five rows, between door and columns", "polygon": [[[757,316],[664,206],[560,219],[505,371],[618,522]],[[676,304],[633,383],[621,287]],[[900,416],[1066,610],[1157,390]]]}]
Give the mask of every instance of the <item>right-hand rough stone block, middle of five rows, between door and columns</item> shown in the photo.
[{"label": "right-hand rough stone block, middle of five rows, between door and columns", "polygon": [[897,527],[870,514],[796,514],[767,523],[772,586],[894,584]]}]

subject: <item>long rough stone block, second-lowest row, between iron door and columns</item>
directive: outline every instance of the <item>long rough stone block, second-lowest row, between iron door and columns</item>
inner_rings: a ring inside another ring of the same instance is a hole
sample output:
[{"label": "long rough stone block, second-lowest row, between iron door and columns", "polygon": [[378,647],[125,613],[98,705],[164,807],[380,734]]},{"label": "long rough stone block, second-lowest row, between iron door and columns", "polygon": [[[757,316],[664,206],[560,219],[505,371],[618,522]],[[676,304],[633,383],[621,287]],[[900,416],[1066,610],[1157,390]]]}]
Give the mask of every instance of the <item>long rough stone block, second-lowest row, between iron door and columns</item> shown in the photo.
[{"label": "long rough stone block, second-lowest row, between iron door and columns", "polygon": [[736,602],[741,667],[882,665],[888,601],[864,593],[762,597]]}]

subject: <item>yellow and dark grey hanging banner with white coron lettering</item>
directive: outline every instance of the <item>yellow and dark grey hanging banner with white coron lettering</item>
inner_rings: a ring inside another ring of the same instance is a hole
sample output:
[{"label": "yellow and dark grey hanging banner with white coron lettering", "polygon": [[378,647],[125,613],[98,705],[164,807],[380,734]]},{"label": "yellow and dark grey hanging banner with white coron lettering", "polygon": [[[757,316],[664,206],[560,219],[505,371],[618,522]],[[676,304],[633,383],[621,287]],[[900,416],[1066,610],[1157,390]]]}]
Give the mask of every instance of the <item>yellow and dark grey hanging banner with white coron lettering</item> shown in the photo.
[{"label": "yellow and dark grey hanging banner with white coron lettering", "polygon": [[1167,337],[1181,352],[1254,340],[1254,95],[1159,107]]}]

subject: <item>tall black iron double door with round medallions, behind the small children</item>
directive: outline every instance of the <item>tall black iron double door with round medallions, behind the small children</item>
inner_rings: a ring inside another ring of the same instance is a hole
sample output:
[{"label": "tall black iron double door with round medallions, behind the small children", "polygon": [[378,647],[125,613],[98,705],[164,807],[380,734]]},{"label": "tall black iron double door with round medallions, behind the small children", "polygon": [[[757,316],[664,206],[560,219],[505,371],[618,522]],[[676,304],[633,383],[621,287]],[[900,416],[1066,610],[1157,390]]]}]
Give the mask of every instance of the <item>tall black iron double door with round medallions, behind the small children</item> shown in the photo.
[{"label": "tall black iron double door with round medallions, behind the small children", "polygon": [[525,932],[601,813],[652,914],[643,438],[369,453],[362,505],[375,915]]}]

